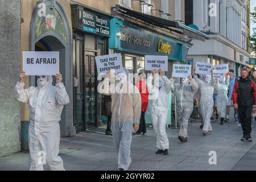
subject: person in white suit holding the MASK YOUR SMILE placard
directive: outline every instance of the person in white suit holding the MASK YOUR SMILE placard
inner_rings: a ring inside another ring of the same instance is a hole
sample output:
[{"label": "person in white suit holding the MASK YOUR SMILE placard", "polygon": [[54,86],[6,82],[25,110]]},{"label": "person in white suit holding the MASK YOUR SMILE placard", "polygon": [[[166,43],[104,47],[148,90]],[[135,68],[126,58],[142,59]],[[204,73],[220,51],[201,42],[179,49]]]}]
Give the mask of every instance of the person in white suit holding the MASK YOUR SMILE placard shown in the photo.
[{"label": "person in white suit holding the MASK YOUR SMILE placard", "polygon": [[[168,98],[171,91],[171,85],[164,85],[162,77],[166,76],[163,75],[163,72],[161,72],[161,74],[161,76],[159,76],[158,73],[156,75],[156,70],[153,70],[152,75],[147,78],[147,86],[149,93],[153,96],[150,115],[153,129],[156,133],[156,147],[158,148],[158,151],[156,151],[155,154],[168,155],[169,140],[166,134],[166,125],[168,120]],[[151,84],[153,76],[154,86]]]}]

